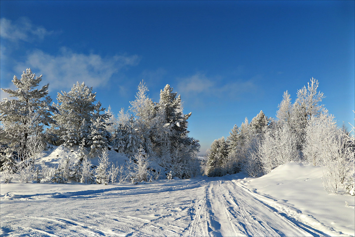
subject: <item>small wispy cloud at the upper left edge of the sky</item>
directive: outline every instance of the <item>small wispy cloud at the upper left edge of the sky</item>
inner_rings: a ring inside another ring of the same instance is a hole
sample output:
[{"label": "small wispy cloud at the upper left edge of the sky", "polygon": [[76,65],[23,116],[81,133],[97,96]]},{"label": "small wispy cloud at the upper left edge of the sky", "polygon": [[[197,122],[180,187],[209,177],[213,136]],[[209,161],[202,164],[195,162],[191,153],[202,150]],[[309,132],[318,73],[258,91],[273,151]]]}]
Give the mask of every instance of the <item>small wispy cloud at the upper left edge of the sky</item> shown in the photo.
[{"label": "small wispy cloud at the upper left edge of the sky", "polygon": [[0,37],[9,39],[12,42],[43,40],[45,36],[53,32],[54,31],[48,31],[41,26],[32,25],[31,20],[27,17],[20,17],[15,22],[6,18],[0,19]]}]

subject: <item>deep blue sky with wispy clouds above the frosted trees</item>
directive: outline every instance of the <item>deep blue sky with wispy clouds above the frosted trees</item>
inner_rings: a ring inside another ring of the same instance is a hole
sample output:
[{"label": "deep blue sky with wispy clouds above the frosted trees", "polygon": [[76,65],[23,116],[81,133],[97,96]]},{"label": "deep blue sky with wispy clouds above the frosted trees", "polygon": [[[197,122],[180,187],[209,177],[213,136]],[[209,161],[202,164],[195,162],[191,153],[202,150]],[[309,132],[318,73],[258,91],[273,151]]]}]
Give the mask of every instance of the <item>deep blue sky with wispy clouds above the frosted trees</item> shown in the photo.
[{"label": "deep blue sky with wispy clouds above the frosted trees", "polygon": [[[85,81],[118,113],[144,80],[174,87],[204,153],[234,124],[275,117],[311,77],[341,125],[354,124],[354,1],[0,2],[0,83],[31,68],[58,91]],[[1,93],[1,98],[5,97]]]}]

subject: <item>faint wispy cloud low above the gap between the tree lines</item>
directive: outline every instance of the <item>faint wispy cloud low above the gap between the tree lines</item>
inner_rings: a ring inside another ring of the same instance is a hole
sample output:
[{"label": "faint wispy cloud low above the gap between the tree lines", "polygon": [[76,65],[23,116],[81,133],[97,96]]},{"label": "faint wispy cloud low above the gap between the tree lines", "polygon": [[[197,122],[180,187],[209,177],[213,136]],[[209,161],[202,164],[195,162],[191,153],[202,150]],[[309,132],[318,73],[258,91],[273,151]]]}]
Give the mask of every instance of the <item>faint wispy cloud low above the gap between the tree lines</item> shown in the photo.
[{"label": "faint wispy cloud low above the gap between the tree lines", "polygon": [[203,106],[210,98],[216,99],[216,103],[228,100],[239,100],[247,93],[254,94],[257,90],[255,81],[257,77],[250,79],[225,80],[221,76],[207,77],[203,73],[179,79],[176,91],[184,95],[185,101],[195,106]]}]

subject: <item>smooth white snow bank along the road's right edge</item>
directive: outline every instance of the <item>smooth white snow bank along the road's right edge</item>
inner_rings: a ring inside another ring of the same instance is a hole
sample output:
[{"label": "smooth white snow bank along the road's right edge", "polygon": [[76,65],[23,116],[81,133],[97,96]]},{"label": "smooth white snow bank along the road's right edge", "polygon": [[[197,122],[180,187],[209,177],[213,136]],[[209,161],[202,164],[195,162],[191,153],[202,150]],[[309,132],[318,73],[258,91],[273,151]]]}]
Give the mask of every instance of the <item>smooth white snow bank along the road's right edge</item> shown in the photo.
[{"label": "smooth white snow bank along the road's right edge", "polygon": [[[355,235],[355,198],[348,194],[328,194],[323,189],[322,168],[287,163],[260,178],[241,181],[242,186],[262,195],[264,201],[290,216],[338,235]],[[346,206],[345,201],[348,202]]]}]

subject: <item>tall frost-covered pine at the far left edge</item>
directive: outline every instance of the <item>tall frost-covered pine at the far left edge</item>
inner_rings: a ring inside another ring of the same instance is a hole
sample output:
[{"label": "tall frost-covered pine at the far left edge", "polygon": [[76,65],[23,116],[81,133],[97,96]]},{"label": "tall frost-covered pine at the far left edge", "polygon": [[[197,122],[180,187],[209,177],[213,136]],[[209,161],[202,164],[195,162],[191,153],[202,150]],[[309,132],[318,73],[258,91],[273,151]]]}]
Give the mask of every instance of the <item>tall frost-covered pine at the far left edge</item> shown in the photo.
[{"label": "tall frost-covered pine at the far left edge", "polygon": [[[55,108],[50,106],[51,98],[48,96],[48,86],[37,89],[42,81],[42,75],[36,76],[31,69],[26,69],[21,79],[13,76],[13,84],[16,90],[2,89],[14,99],[4,98],[0,102],[0,122],[2,132],[0,142],[17,150],[26,150],[27,140],[32,134],[40,134],[43,125],[54,123],[50,111]],[[35,116],[34,116],[35,114]],[[29,130],[28,128],[31,128]]]}]

